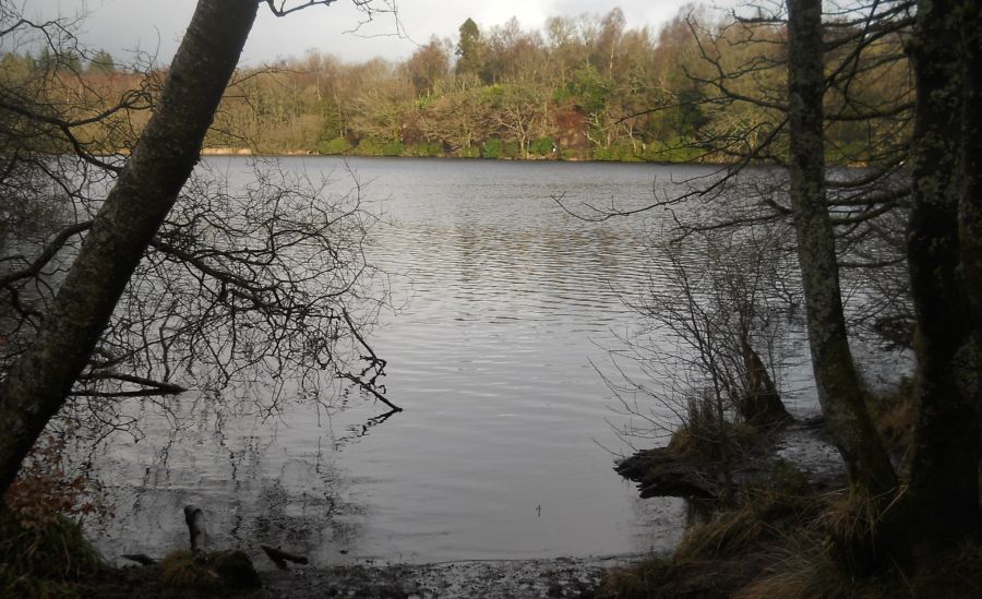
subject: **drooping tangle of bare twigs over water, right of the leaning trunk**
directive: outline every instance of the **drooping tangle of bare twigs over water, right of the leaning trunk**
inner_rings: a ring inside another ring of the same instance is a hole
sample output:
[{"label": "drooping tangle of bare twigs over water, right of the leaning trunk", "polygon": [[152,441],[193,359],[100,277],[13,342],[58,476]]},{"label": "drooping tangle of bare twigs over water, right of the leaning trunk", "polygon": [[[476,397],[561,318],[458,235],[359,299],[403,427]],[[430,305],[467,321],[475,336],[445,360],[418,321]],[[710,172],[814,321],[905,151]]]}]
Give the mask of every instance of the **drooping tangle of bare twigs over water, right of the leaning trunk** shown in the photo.
[{"label": "drooping tangle of bare twigs over water, right of the leaning trunk", "polygon": [[326,371],[395,407],[378,383],[385,362],[360,333],[385,298],[363,259],[361,188],[330,197],[328,180],[254,177],[242,190],[191,182],[104,335],[113,368],[201,388],[292,378],[313,390]]}]

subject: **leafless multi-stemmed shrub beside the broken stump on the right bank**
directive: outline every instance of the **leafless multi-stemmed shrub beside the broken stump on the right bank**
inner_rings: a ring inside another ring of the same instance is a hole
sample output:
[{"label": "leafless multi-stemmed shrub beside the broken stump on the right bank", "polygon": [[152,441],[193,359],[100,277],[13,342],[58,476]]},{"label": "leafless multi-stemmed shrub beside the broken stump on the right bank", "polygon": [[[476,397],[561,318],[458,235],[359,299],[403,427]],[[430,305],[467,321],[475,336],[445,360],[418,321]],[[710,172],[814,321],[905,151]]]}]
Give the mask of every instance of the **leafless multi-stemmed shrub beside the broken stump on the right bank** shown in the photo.
[{"label": "leafless multi-stemmed shrub beside the broken stump on the right bank", "polygon": [[[787,228],[696,233],[652,248],[646,289],[626,303],[643,319],[602,372],[632,438],[670,438],[682,457],[714,459],[722,495],[749,440],[790,420],[778,391],[794,298]],[[791,301],[789,301],[789,299]]]}]

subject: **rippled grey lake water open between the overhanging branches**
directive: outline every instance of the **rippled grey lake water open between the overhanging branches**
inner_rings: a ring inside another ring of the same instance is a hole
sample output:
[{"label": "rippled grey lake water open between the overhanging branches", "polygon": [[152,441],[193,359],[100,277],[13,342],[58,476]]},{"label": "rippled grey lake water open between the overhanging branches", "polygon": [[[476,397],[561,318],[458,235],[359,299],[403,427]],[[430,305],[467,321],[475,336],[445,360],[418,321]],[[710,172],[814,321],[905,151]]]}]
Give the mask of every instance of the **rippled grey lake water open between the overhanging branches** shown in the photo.
[{"label": "rippled grey lake water open between the overhanging branches", "polygon": [[[283,546],[315,563],[547,558],[669,549],[685,508],[640,500],[613,471],[624,418],[591,362],[636,324],[619,293],[647,281],[662,214],[586,223],[552,199],[639,205],[669,167],[352,159],[375,227],[369,260],[392,273],[395,313],[370,340],[388,360],[381,404],[297,403],[284,414],[207,407],[184,394],[180,430],[154,406],[146,438],[96,458],[117,502],[110,555],[183,547],[181,507],[208,513],[219,546]],[[235,179],[237,159],[211,165]],[[287,160],[334,172],[342,160]],[[693,167],[685,167],[692,169]]]}]

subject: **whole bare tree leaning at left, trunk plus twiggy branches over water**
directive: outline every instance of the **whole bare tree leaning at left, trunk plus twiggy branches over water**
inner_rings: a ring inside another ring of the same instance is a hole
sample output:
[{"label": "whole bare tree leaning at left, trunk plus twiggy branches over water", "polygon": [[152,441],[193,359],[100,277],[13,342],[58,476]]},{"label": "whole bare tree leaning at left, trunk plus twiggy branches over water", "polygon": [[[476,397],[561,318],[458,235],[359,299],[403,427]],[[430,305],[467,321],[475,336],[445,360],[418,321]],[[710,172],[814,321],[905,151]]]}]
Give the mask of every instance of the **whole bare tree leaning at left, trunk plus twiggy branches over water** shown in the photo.
[{"label": "whole bare tree leaning at left, trunk plus twiggy branches over water", "polygon": [[[309,5],[331,3],[332,0],[267,2],[279,15]],[[237,360],[246,360],[249,364],[252,358],[252,366],[266,359],[276,360],[275,356],[259,357],[259,352],[266,349],[284,349],[287,359],[313,358],[310,367],[325,367],[331,361],[332,344],[342,336],[350,335],[354,345],[363,347],[363,358],[374,373],[351,373],[339,367],[335,372],[349,374],[366,390],[375,390],[375,376],[381,373],[384,362],[368,348],[357,331],[363,314],[339,310],[337,304],[323,306],[324,298],[316,295],[312,283],[314,273],[304,272],[298,262],[304,252],[326,251],[327,255],[319,257],[325,259],[330,276],[337,276],[338,281],[349,277],[348,285],[340,284],[340,295],[354,289],[350,283],[352,273],[340,264],[350,256],[350,248],[333,245],[336,228],[347,223],[345,218],[338,218],[345,213],[330,214],[330,209],[314,209],[296,214],[296,206],[290,205],[295,196],[282,181],[278,188],[280,193],[274,194],[272,207],[265,203],[260,206],[259,195],[250,197],[248,193],[238,199],[230,194],[213,196],[213,201],[225,202],[246,214],[249,211],[272,211],[259,218],[262,221],[260,225],[246,218],[238,223],[232,219],[230,228],[215,227],[218,206],[205,203],[190,212],[178,212],[170,225],[164,227],[199,160],[202,140],[235,70],[260,4],[254,0],[199,2],[155,104],[154,116],[122,166],[109,164],[86,152],[74,131],[89,121],[52,118],[45,111],[21,109],[19,104],[0,106],[24,117],[25,122],[32,125],[46,125],[60,132],[53,139],[67,142],[84,164],[115,176],[111,189],[105,200],[99,201],[98,211],[91,221],[77,221],[61,229],[48,240],[37,257],[25,260],[23,268],[4,276],[3,287],[11,298],[22,292],[17,286],[24,280],[32,280],[34,286],[57,287],[57,295],[44,313],[29,306],[21,310],[23,331],[29,332],[32,338],[24,344],[23,350],[16,351],[0,384],[0,421],[7,431],[0,442],[0,490],[9,487],[35,439],[74,392],[82,390],[89,395],[104,393],[100,390],[106,380],[117,385],[136,385],[153,393],[176,391],[168,386],[171,385],[168,367],[148,364],[155,351],[166,361],[168,351],[177,340],[181,340],[189,351],[179,358],[178,363],[181,360],[192,363],[204,351],[215,354],[218,349],[214,363],[218,364],[220,376],[229,376],[238,370],[238,367],[231,367]],[[359,5],[369,14],[374,10],[370,2],[359,2]],[[17,21],[14,26],[38,27],[23,21]],[[122,108],[117,110],[125,109],[128,105],[121,103],[120,106]],[[87,179],[85,183],[93,184],[93,181]],[[268,189],[267,185],[265,191]],[[290,214],[290,211],[294,213]],[[310,220],[300,221],[302,217]],[[237,229],[244,238],[232,238],[230,233]],[[62,252],[63,247],[83,233],[81,248],[64,262],[68,256]],[[314,242],[318,240],[326,241],[327,247],[323,243],[316,247]],[[331,249],[336,253],[331,254]],[[291,266],[295,268],[290,269]],[[56,274],[57,271],[64,272],[63,278],[57,277],[60,280],[55,285],[53,280],[46,281],[37,276],[51,268]],[[195,289],[205,302],[205,319],[200,322],[209,324],[208,319],[216,318],[224,322],[226,334],[233,338],[223,337],[220,327],[205,326],[201,331],[189,332],[180,318],[170,318],[166,312],[153,311],[152,318],[142,319],[149,307],[139,306],[139,302],[120,303],[124,297],[147,297],[147,289],[141,288],[141,285],[152,283],[131,279],[137,272],[156,275],[159,277],[157,280],[169,281],[171,290],[181,291],[173,296],[177,304],[159,306],[164,311],[185,308],[180,302],[187,302],[190,290]],[[280,287],[282,284],[286,286]],[[135,296],[127,296],[128,289]],[[289,291],[297,291],[298,297],[287,297]],[[208,304],[212,297],[214,302]],[[117,324],[125,324],[129,318],[129,324],[136,324],[136,330],[131,326],[125,326],[125,330],[122,326],[111,327],[113,314],[123,316]],[[268,339],[268,346],[255,347],[256,337],[244,335],[243,339],[239,336],[239,327],[243,324],[262,323],[270,331],[284,327],[285,323],[303,323],[304,320],[318,321],[318,326],[326,326],[337,337],[332,339],[328,335],[318,346],[309,335],[290,339],[274,336]],[[146,326],[141,328],[141,324]],[[154,325],[159,326],[155,328]],[[216,334],[216,331],[219,332]],[[146,351],[143,355],[120,351],[120,347],[133,347],[132,343],[120,343],[128,336],[142,338],[145,342],[142,347],[147,348]],[[314,346],[306,347],[307,344]],[[147,367],[147,373],[152,376],[127,372],[120,368],[123,364]],[[132,394],[140,391],[123,388],[107,393]],[[381,394],[376,396],[382,397]]]}]

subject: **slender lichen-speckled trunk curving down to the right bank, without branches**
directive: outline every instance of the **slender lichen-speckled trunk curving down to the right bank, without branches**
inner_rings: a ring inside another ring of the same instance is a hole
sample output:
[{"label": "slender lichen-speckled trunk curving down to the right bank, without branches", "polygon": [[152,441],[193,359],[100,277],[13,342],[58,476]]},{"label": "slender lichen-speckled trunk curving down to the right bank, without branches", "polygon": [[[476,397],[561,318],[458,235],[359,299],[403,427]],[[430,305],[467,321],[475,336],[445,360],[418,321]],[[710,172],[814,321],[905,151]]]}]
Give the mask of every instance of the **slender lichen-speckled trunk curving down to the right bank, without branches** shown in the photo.
[{"label": "slender lichen-speckled trunk curving down to the right bank, without branches", "polygon": [[791,206],[818,400],[850,482],[884,495],[895,489],[896,475],[866,410],[849,349],[826,204],[821,0],[788,2],[788,34]]}]

